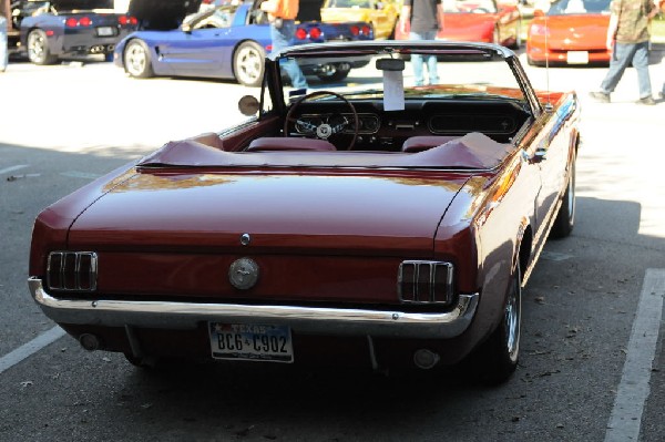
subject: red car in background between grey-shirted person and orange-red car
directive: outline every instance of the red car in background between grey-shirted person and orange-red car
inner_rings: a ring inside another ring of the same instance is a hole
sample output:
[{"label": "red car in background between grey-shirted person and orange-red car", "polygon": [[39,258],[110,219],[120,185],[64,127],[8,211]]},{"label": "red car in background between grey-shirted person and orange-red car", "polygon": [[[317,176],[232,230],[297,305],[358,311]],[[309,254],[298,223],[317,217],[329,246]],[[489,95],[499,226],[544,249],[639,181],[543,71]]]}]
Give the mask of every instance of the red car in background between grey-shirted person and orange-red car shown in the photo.
[{"label": "red car in background between grey-shirted person and orange-red car", "polygon": [[[522,44],[521,13],[516,4],[495,0],[443,0],[443,11],[438,40],[497,43],[513,49]],[[396,27],[395,38],[409,39],[408,23],[406,34]]]}]

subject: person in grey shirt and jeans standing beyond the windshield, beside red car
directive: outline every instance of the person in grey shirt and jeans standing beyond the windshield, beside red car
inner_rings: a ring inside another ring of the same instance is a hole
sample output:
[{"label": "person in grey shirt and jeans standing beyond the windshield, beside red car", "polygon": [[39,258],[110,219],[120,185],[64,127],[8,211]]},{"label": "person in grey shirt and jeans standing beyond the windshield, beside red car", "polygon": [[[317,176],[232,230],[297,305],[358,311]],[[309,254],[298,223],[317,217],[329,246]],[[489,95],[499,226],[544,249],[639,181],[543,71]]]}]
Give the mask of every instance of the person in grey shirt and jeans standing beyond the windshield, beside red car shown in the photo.
[{"label": "person in grey shirt and jeans standing beyond the windshield, beside red car", "polygon": [[[403,0],[400,31],[407,33],[407,23],[409,23],[409,40],[434,40],[441,24],[443,23],[443,6],[441,0]],[[427,60],[426,60],[427,59]],[[416,85],[424,84],[423,65],[427,64],[427,74],[429,84],[439,82],[437,72],[437,55],[411,55],[411,65],[413,66],[413,76]]]}]

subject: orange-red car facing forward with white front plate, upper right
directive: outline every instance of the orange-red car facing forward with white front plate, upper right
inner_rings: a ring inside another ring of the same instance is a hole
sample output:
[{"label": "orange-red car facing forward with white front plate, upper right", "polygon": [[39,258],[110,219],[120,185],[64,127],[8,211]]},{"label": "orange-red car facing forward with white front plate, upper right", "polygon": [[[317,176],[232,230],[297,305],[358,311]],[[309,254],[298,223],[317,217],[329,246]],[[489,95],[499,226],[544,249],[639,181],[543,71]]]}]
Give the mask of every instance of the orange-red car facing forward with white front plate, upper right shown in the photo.
[{"label": "orange-red car facing forward with white front plate, upper right", "polygon": [[536,10],[526,35],[529,64],[608,64],[610,2],[557,0],[546,12]]}]

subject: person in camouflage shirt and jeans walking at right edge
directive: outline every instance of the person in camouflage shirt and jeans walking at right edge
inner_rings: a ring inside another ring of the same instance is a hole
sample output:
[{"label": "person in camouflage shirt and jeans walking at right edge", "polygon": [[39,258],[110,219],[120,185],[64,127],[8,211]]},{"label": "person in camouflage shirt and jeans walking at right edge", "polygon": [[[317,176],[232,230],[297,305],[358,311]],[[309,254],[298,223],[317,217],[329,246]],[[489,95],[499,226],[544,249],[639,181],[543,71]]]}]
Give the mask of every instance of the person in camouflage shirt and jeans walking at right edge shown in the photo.
[{"label": "person in camouflage shirt and jeans walking at right edge", "polygon": [[601,90],[590,95],[610,103],[610,94],[618,84],[626,68],[633,63],[640,84],[638,104],[656,104],[652,96],[648,74],[648,22],[657,13],[653,0],[612,0],[607,28],[607,49],[612,50],[610,70],[601,83]]}]

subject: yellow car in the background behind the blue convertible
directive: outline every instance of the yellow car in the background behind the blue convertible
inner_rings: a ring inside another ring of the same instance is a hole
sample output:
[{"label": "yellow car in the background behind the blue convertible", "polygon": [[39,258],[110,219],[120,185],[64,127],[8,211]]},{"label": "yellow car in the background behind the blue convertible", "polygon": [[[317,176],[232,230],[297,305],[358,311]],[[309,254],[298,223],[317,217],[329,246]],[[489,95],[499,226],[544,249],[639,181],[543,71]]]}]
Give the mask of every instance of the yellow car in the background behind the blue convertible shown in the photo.
[{"label": "yellow car in the background behind the blue convertible", "polygon": [[390,39],[399,18],[401,1],[325,0],[321,21],[327,23],[366,21],[374,27],[375,39]]}]

